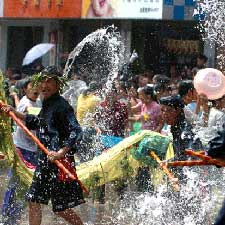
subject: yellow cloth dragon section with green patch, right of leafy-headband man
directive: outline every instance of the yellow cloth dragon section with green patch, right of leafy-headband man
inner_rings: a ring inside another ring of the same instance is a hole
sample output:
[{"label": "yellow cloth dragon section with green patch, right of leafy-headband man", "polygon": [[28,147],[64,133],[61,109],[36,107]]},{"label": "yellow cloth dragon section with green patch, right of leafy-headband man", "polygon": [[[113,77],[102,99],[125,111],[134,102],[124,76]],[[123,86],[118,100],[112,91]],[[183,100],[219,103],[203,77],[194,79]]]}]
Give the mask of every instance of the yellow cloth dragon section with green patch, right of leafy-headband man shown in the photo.
[{"label": "yellow cloth dragon section with green patch, right of leafy-headband man", "polygon": [[[103,185],[105,183],[114,181],[119,178],[127,178],[128,176],[135,176],[137,169],[141,166],[140,162],[134,159],[131,155],[131,149],[138,146],[144,137],[151,135],[160,135],[159,133],[143,130],[135,135],[125,138],[119,144],[115,145],[106,152],[103,152],[93,160],[85,162],[77,166],[77,175],[80,180],[88,187],[89,181],[93,180],[92,177],[98,176],[98,184]],[[168,160],[174,157],[174,151],[172,143],[169,144],[164,159]],[[162,159],[162,160],[164,160]],[[131,173],[127,174],[128,171],[124,170],[124,161],[127,161],[129,170]],[[164,172],[161,169],[151,169],[152,182],[154,185],[160,185],[163,183]]]}]

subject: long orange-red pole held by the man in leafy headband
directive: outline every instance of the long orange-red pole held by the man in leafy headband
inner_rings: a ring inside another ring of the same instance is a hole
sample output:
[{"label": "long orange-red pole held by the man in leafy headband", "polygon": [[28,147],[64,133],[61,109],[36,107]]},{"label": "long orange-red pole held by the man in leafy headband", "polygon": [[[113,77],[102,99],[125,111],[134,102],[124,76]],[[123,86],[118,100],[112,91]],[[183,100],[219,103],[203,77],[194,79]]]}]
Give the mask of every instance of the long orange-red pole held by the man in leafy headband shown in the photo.
[{"label": "long orange-red pole held by the man in leafy headband", "polygon": [[[0,108],[2,106],[4,106],[5,104],[0,100]],[[17,118],[17,116],[12,112],[12,111],[9,111],[7,112],[7,114],[9,115],[9,117],[11,117],[18,126],[20,126],[23,131],[38,145],[38,147],[46,154],[46,155],[49,155],[49,150],[40,142],[40,140],[34,136],[34,134],[32,132],[30,132],[28,130],[28,128],[21,122],[21,120],[19,118]],[[55,160],[54,163],[58,166],[58,168],[60,168],[69,178],[71,178],[72,180],[76,180],[81,188],[83,189],[83,191],[86,193],[86,194],[89,194],[89,191],[87,190],[87,188],[82,184],[82,182],[78,179],[77,177],[77,174],[74,170],[74,175],[71,174],[71,172],[66,169],[64,167],[64,165],[59,161],[59,160]]]}]

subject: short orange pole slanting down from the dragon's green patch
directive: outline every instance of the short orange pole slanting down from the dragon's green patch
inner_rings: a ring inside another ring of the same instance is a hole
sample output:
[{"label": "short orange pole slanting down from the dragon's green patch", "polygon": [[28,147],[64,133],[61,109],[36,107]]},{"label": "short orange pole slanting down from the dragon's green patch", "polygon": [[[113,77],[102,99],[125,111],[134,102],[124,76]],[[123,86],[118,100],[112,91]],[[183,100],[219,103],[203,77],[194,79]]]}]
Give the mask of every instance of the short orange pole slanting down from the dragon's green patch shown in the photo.
[{"label": "short orange pole slanting down from the dragon's green patch", "polygon": [[165,163],[162,163],[160,158],[155,154],[154,151],[150,152],[150,156],[159,164],[161,169],[164,171],[164,173],[168,176],[172,186],[175,188],[175,190],[180,191],[180,187],[178,184],[177,178],[173,176],[173,174],[170,172],[170,170],[167,168]]}]

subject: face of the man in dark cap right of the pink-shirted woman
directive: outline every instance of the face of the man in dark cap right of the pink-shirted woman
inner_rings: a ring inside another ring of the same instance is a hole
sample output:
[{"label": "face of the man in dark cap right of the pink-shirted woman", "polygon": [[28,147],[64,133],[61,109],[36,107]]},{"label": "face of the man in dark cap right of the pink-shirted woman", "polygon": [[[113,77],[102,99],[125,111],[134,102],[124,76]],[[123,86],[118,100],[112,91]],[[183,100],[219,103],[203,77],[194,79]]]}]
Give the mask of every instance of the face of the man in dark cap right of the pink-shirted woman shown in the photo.
[{"label": "face of the man in dark cap right of the pink-shirted woman", "polygon": [[177,115],[180,113],[179,109],[175,109],[171,106],[161,105],[161,112],[163,121],[168,125],[174,125],[177,119]]}]

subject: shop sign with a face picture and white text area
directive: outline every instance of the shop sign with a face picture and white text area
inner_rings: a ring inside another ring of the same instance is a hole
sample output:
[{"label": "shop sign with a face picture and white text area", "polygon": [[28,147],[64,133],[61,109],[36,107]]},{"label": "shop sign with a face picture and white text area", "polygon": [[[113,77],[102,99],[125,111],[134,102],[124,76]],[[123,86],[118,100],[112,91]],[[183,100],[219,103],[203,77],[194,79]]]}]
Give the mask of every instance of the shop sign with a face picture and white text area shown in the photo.
[{"label": "shop sign with a face picture and white text area", "polygon": [[163,0],[83,0],[83,18],[162,19]]}]

